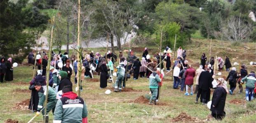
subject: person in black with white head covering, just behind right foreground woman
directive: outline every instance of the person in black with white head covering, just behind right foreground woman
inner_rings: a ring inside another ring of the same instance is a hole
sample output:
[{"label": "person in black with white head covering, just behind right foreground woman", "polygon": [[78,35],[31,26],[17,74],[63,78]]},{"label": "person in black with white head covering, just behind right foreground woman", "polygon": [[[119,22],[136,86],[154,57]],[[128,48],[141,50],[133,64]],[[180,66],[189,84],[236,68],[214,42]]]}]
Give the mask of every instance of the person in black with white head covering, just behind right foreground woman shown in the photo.
[{"label": "person in black with white head covering, just behind right foreground woman", "polygon": [[229,81],[230,90],[229,93],[232,95],[233,91],[235,90],[235,87],[237,86],[237,79],[239,76],[237,75],[237,71],[235,67],[231,69],[231,71],[228,74],[228,77],[226,78],[226,81]]}]

